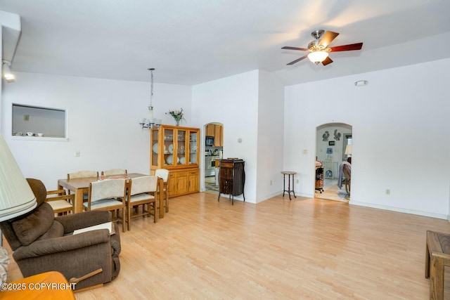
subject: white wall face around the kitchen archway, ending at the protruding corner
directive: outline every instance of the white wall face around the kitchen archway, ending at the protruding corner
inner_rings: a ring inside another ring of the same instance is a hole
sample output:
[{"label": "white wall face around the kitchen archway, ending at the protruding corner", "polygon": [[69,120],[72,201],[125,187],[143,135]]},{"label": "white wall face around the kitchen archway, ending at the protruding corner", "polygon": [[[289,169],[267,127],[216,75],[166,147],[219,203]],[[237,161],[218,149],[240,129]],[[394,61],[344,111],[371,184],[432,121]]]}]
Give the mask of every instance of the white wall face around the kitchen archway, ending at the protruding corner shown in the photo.
[{"label": "white wall face around the kitchen archway, ending at the protruding corner", "polygon": [[[203,128],[210,122],[224,124],[224,157],[244,159],[245,201],[252,203],[256,202],[258,74],[255,70],[193,86],[192,106],[196,126]],[[200,162],[204,162],[205,132],[201,136]],[[200,177],[203,176],[202,165]],[[202,182],[200,188],[204,187]]]}]

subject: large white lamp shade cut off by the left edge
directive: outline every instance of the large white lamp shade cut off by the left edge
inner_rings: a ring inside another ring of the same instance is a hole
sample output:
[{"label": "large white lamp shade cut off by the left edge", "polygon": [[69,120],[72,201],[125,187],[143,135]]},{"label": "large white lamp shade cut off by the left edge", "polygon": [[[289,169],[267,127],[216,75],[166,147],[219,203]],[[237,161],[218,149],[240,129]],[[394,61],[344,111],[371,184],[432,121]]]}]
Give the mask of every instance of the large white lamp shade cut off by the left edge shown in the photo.
[{"label": "large white lamp shade cut off by the left edge", "polygon": [[36,197],[0,133],[0,221],[32,211]]}]

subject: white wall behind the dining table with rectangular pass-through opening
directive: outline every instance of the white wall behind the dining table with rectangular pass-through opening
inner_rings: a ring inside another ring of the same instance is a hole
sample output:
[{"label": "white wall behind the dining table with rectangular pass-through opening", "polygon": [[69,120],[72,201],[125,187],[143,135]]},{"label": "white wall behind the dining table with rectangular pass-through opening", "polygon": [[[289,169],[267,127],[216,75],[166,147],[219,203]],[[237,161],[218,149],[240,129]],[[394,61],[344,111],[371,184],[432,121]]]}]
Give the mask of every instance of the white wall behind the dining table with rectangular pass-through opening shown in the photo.
[{"label": "white wall behind the dining table with rectangular pass-through opening", "polygon": [[[58,178],[77,170],[124,168],[149,174],[149,132],[139,126],[148,117],[149,82],[16,75],[2,92],[1,131],[25,177],[39,178],[53,189]],[[155,83],[154,91],[154,117],[174,124],[165,112],[183,107],[186,125],[191,125],[191,86]],[[67,109],[68,141],[11,137],[12,103]]]}]

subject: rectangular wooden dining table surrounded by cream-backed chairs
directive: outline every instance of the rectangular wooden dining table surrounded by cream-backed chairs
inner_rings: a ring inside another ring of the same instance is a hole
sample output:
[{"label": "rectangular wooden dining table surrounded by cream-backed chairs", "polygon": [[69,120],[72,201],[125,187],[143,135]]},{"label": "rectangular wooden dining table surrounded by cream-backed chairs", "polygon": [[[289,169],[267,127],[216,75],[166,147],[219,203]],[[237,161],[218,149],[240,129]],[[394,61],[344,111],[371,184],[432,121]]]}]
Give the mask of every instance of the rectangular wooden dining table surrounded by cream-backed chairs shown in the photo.
[{"label": "rectangular wooden dining table surrounded by cream-backed chairs", "polygon": [[[114,178],[136,178],[141,176],[148,176],[146,174],[139,173],[129,173],[125,175],[115,175],[115,176],[105,176],[103,179],[114,179]],[[83,211],[83,194],[89,193],[89,183],[102,180],[100,177],[85,177],[85,178],[72,178],[72,179],[58,179],[58,189],[67,188],[72,193],[75,193],[75,202],[73,204],[74,213],[77,214]],[[160,185],[160,181],[158,181]],[[158,187],[158,198],[160,200],[160,219],[164,218],[164,202],[161,197],[162,186]],[[156,212],[155,212],[156,214]]]}]

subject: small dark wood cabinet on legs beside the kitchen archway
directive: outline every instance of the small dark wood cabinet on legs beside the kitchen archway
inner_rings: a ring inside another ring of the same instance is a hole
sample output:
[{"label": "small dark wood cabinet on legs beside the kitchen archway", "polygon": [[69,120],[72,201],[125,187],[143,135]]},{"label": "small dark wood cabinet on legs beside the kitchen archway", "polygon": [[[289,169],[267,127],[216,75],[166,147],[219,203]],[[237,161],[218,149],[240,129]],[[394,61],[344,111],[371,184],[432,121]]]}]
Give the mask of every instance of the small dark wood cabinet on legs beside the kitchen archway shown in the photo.
[{"label": "small dark wood cabinet on legs beside the kitchen archway", "polygon": [[219,165],[219,197],[220,194],[230,195],[231,205],[234,204],[234,196],[242,194],[245,202],[245,162],[243,159],[221,159]]}]

